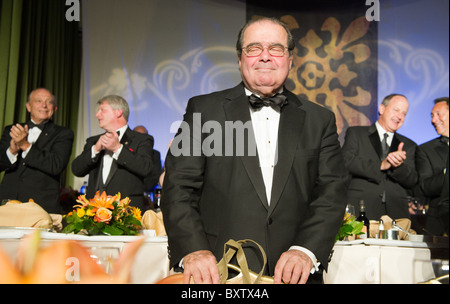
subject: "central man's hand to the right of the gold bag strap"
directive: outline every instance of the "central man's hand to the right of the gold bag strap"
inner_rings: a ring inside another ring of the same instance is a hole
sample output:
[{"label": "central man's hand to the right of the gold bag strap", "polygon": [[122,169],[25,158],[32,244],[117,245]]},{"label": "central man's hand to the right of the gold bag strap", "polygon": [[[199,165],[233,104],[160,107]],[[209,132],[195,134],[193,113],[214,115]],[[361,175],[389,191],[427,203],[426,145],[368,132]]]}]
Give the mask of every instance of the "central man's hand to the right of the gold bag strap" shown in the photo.
[{"label": "central man's hand to the right of the gold bag strap", "polygon": [[305,284],[313,267],[311,258],[300,250],[284,252],[275,266],[274,283]]}]

